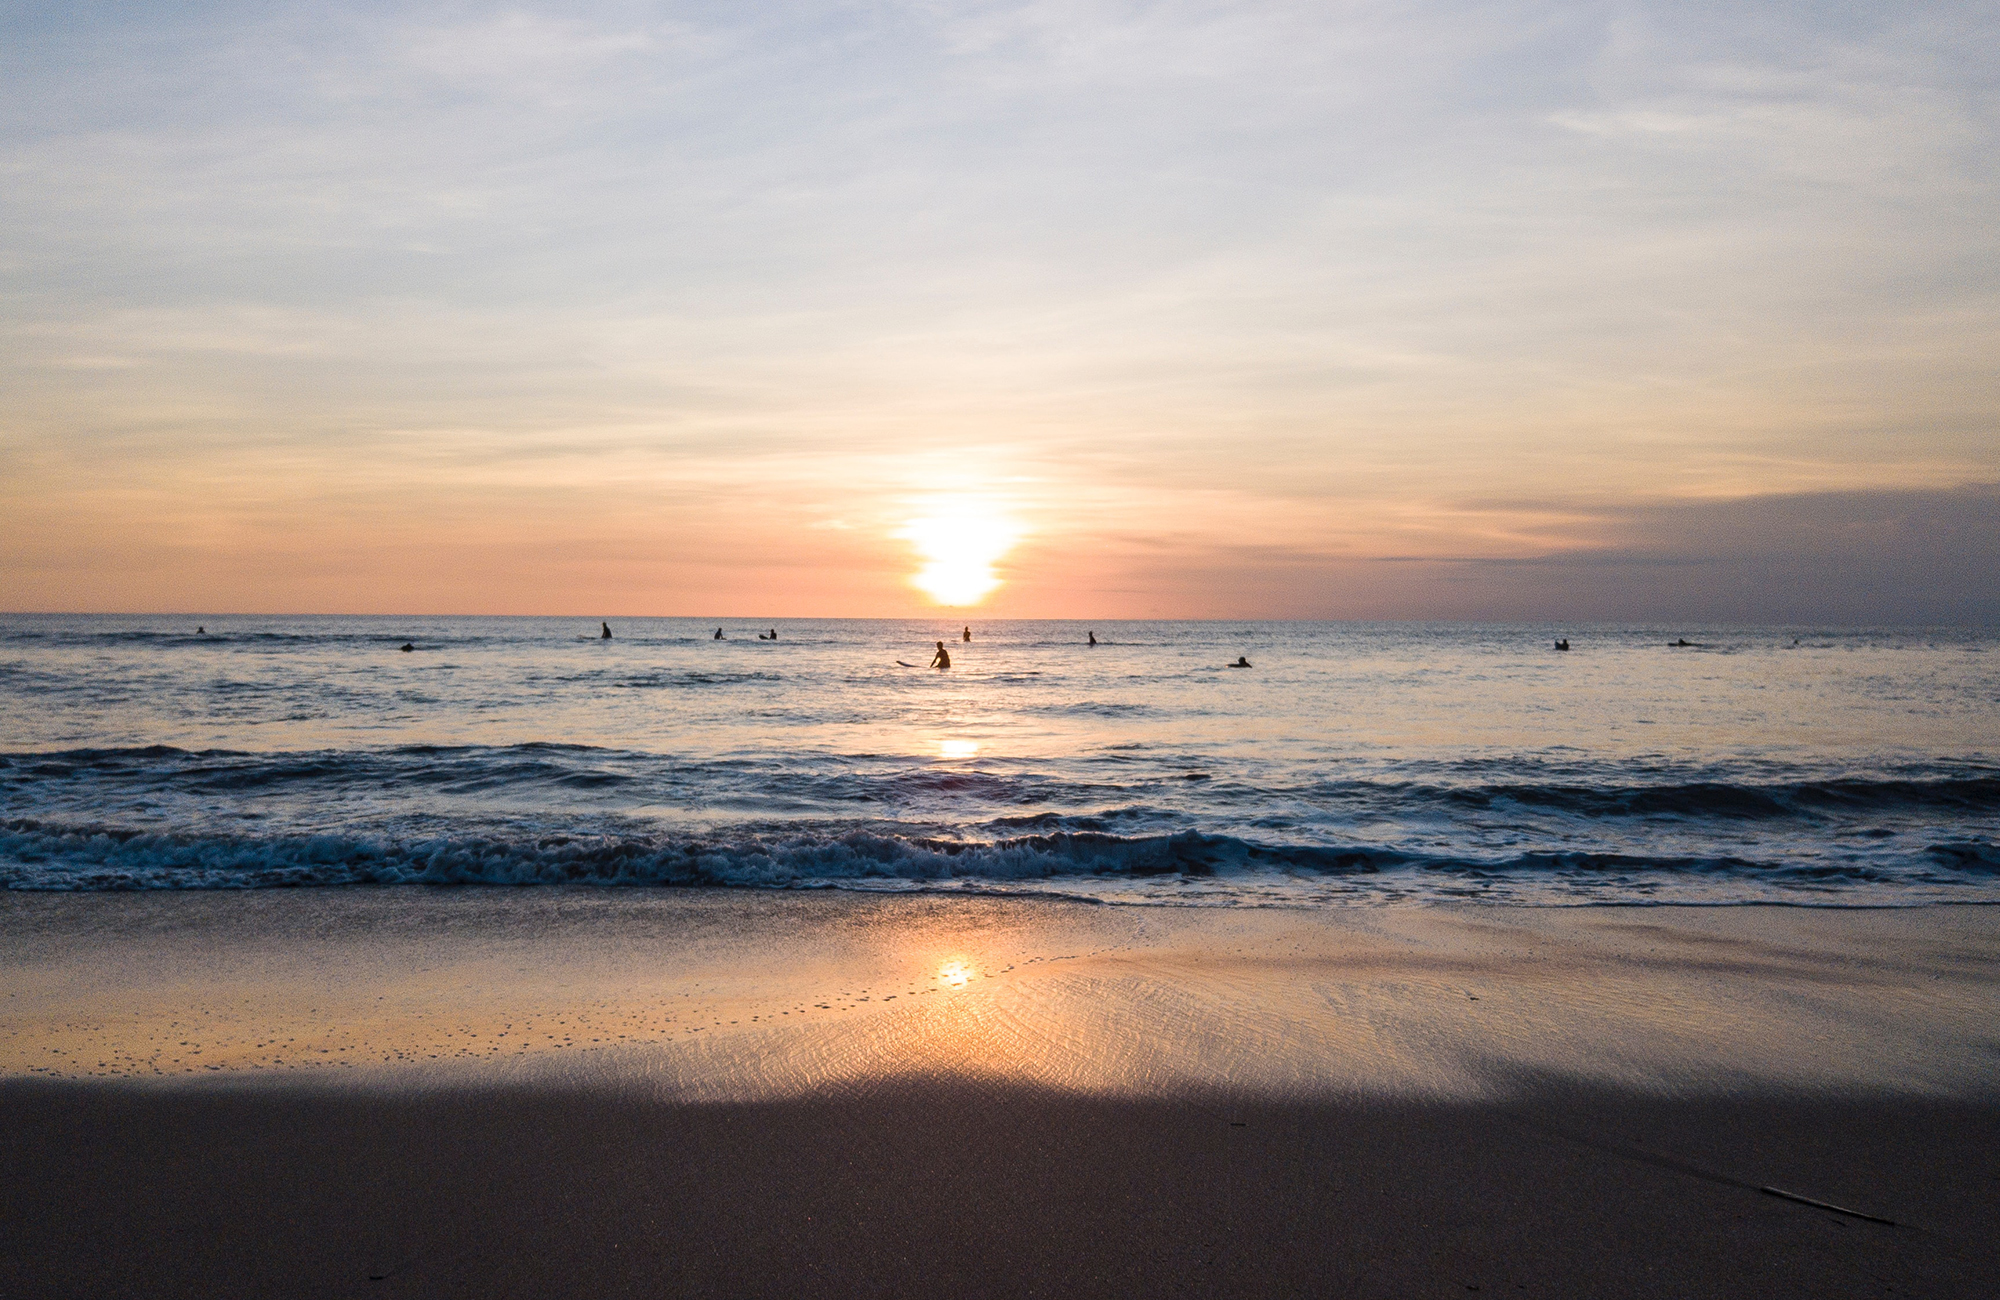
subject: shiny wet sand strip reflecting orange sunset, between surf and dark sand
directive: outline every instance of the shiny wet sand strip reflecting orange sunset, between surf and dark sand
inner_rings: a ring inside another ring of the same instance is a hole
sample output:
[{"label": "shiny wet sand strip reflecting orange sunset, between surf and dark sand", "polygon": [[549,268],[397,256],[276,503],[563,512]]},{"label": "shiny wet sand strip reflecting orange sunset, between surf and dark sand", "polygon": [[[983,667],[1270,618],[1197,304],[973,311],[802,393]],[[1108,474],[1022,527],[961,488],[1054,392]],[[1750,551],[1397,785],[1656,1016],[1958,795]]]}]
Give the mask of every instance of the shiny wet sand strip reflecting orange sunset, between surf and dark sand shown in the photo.
[{"label": "shiny wet sand strip reflecting orange sunset, between surf and dark sand", "polygon": [[[952,1076],[1470,1098],[1524,1074],[1940,1092],[1990,1074],[2000,930],[1984,912],[1692,910],[1646,926],[1610,912],[612,890],[94,896],[84,912],[14,898],[0,1078],[340,1070],[438,1086],[504,1070],[766,1098]],[[1728,968],[1662,958],[1662,936]],[[1802,968],[1806,950],[1824,966]],[[1892,950],[1928,972],[1920,1008],[1894,982],[1826,994],[1828,972]]]}]

